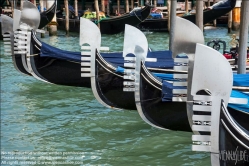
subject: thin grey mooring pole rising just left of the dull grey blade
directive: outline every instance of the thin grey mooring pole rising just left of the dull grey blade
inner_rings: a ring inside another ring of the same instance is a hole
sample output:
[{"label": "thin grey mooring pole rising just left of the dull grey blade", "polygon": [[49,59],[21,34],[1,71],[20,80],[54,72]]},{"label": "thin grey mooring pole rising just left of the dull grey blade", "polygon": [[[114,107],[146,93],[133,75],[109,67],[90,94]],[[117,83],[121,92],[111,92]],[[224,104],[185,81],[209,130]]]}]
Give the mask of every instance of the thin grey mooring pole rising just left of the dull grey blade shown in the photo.
[{"label": "thin grey mooring pole rising just left of the dull grey blade", "polygon": [[177,6],[177,1],[176,0],[171,0],[171,3],[170,3],[169,50],[172,50],[173,41],[174,41],[174,38],[175,38],[176,6]]}]

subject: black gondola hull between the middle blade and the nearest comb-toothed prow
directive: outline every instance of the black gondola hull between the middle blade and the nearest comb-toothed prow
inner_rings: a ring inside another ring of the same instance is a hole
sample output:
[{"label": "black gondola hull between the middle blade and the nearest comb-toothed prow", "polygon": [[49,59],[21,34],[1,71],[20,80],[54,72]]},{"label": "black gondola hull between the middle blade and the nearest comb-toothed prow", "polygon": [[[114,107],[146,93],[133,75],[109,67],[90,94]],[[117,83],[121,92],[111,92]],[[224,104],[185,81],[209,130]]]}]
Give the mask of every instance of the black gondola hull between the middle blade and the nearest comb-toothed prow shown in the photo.
[{"label": "black gondola hull between the middle blade and the nearest comb-toothed prow", "polygon": [[[157,87],[157,88],[156,88]],[[153,124],[170,130],[192,131],[185,102],[162,102],[162,85],[141,67],[140,102],[145,117]]]}]

